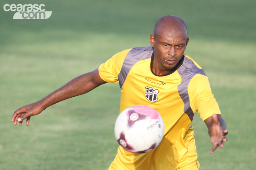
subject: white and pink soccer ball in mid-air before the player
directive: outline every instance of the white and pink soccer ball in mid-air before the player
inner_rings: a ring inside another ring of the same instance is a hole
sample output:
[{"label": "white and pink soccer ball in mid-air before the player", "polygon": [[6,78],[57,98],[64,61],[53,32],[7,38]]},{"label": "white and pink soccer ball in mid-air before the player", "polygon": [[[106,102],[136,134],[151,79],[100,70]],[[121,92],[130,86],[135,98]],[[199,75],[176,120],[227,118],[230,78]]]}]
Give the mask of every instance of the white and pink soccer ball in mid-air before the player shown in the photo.
[{"label": "white and pink soccer ball in mid-air before the player", "polygon": [[153,150],[164,137],[164,122],[159,113],[145,105],[126,108],[116,119],[115,137],[127,151],[145,153]]}]

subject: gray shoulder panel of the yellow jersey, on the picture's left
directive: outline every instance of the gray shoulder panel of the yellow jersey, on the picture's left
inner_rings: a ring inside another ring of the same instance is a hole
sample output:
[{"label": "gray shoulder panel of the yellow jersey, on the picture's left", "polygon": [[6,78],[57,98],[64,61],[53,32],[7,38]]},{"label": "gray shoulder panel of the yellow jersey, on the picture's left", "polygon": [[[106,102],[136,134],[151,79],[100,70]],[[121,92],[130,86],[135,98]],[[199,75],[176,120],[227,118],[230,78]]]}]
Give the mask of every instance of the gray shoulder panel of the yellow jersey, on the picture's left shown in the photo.
[{"label": "gray shoulder panel of the yellow jersey, on the picture's left", "polygon": [[134,64],[136,64],[140,60],[151,58],[153,51],[154,50],[151,46],[147,46],[147,47],[132,48],[127,53],[127,55],[125,56],[121,71],[118,74],[118,81],[119,81],[120,88],[122,88],[124,81],[129,73],[129,71],[134,66]]}]

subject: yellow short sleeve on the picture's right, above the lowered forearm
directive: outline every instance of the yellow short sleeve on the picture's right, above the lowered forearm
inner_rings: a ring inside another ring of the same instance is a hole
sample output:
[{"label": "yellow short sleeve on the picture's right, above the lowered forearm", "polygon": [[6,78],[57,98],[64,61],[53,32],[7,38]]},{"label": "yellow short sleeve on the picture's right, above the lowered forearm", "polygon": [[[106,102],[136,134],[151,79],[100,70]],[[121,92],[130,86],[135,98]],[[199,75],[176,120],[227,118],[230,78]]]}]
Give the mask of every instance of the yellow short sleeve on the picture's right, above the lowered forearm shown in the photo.
[{"label": "yellow short sleeve on the picture's right, above the lowered forearm", "polygon": [[221,114],[207,76],[196,74],[188,85],[188,95],[190,107],[194,113],[200,114],[203,121],[214,113]]}]

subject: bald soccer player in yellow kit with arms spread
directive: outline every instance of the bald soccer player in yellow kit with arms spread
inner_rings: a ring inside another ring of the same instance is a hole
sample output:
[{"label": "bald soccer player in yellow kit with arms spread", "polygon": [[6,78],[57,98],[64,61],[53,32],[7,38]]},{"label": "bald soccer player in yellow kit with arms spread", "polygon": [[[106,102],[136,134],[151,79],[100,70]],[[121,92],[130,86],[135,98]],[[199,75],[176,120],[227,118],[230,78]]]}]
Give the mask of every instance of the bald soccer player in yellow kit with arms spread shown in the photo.
[{"label": "bald soccer player in yellow kit with arms spread", "polygon": [[119,82],[120,112],[142,104],[155,108],[164,120],[164,138],[153,151],[134,154],[118,147],[112,169],[197,170],[199,163],[191,122],[196,111],[208,127],[213,147],[227,141],[226,123],[212,95],[204,70],[184,54],[188,45],[185,22],[172,15],[160,18],[148,47],[136,47],[114,55],[92,72],[71,80],[44,99],[16,110],[14,125],[38,115],[46,107],[84,94],[106,82]]}]

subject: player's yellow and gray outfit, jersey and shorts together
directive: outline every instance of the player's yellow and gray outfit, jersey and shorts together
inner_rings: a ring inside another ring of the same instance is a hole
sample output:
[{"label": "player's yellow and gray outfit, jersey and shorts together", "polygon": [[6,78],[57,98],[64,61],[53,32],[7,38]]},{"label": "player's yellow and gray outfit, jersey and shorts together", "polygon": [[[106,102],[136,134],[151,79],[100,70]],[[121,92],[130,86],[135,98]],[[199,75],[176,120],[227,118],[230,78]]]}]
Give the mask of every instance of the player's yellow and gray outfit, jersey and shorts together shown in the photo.
[{"label": "player's yellow and gray outfit, jersey and shorts together", "polygon": [[152,151],[136,154],[118,147],[109,170],[176,170],[199,167],[193,127],[196,112],[205,120],[220,114],[204,70],[183,55],[169,73],[157,76],[152,71],[154,48],[136,47],[117,53],[99,67],[100,77],[119,82],[120,113],[133,105],[150,106],[162,116],[164,138]]}]

